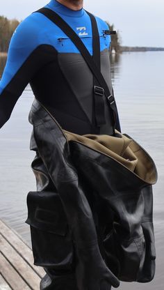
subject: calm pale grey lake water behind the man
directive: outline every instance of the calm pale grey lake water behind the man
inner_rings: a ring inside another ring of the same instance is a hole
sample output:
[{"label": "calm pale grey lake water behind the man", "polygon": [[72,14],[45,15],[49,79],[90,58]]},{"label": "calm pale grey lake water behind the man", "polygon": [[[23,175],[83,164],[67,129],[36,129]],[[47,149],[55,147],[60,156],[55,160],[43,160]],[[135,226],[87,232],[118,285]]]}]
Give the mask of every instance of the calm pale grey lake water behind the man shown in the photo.
[{"label": "calm pale grey lake water behind the man", "polygon": [[[2,62],[0,65],[2,70]],[[121,283],[120,290],[162,290],[164,287],[164,52],[124,52],[112,57],[113,89],[120,112],[122,132],[131,135],[154,158],[158,183],[154,185],[154,228],[156,276],[147,284]],[[1,72],[0,72],[1,74]],[[28,112],[33,93],[27,86],[17,101],[10,120],[0,130],[0,218],[31,245],[26,195],[35,190],[29,150],[32,126]]]}]

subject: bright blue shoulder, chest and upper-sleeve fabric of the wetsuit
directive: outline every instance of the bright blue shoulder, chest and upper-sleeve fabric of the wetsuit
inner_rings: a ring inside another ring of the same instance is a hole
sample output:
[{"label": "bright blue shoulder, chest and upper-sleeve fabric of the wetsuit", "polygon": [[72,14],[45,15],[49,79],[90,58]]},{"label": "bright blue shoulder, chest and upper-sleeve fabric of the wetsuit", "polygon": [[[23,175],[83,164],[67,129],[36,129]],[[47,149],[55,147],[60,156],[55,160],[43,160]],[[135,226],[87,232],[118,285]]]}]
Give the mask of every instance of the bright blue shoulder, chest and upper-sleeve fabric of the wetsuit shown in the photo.
[{"label": "bright blue shoulder, chest and upper-sleeve fabric of the wetsuit", "polygon": [[[85,47],[92,55],[92,27],[89,15],[82,8],[72,10],[60,4],[56,0],[51,0],[45,7],[56,11],[81,37]],[[103,30],[108,29],[108,25],[101,18],[96,17],[101,51],[110,47],[110,36],[104,36]],[[65,38],[58,40],[58,38]],[[53,45],[60,53],[79,53],[74,43],[47,17],[40,13],[32,13],[17,26],[10,40],[8,49],[8,59],[6,68],[0,81],[0,95],[3,89],[15,77],[19,68],[28,60],[31,52],[39,45]]]}]

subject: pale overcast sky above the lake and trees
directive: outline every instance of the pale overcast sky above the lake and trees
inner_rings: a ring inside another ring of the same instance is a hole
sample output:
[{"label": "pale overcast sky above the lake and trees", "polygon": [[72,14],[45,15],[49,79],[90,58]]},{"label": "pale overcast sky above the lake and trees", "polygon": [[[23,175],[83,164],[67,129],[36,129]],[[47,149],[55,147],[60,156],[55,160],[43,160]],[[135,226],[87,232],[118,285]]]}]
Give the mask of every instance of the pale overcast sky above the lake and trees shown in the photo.
[{"label": "pale overcast sky above the lake and trees", "polygon": [[[23,20],[49,0],[0,0],[0,15]],[[115,24],[122,45],[164,47],[164,0],[84,0],[84,8]]]}]

